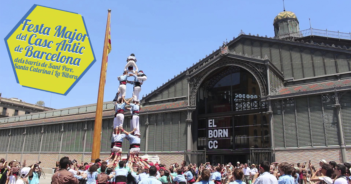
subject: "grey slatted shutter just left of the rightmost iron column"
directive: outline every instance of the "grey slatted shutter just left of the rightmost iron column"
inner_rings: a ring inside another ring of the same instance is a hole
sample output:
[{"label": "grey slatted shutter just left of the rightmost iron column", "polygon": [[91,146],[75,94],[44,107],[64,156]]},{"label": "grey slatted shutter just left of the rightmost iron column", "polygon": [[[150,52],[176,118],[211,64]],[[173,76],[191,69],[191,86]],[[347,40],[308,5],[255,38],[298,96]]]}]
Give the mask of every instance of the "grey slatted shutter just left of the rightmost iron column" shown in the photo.
[{"label": "grey slatted shutter just left of the rightmost iron column", "polygon": [[338,131],[334,100],[329,95],[323,95],[324,121],[328,146],[338,145]]}]

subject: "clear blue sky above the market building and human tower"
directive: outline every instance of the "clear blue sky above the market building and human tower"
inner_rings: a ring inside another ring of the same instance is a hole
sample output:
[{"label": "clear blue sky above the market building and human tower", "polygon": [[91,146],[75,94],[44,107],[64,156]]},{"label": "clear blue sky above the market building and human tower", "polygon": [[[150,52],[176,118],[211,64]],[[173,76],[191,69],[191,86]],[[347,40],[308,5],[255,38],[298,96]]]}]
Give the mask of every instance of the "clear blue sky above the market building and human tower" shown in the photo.
[{"label": "clear blue sky above the market building and human tower", "polygon": [[[16,83],[4,38],[33,6],[38,4],[84,16],[97,62],[67,96],[52,94],[52,108],[97,102],[107,9],[111,12],[112,52],[108,56],[104,101],[117,93],[119,76],[128,55],[134,53],[138,67],[147,75],[141,96],[216,50],[225,39],[246,34],[274,36],[273,19],[283,11],[281,0],[266,1],[0,1],[0,93],[28,103],[42,100],[50,106],[51,93]],[[296,14],[300,30],[310,27],[349,33],[351,1],[285,0],[285,9]],[[127,97],[132,94],[127,87]]]}]

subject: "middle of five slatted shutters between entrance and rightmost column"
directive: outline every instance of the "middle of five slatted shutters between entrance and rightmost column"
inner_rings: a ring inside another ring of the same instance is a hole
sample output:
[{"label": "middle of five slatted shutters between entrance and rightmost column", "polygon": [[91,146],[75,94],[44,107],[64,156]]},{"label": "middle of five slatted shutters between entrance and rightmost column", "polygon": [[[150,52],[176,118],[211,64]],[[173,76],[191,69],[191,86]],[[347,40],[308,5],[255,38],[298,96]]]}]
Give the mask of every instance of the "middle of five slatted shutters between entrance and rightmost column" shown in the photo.
[{"label": "middle of five slatted shutters between entrance and rightmost column", "polygon": [[296,98],[295,101],[299,147],[311,147],[310,118],[308,114],[308,103],[306,103],[307,98]]}]

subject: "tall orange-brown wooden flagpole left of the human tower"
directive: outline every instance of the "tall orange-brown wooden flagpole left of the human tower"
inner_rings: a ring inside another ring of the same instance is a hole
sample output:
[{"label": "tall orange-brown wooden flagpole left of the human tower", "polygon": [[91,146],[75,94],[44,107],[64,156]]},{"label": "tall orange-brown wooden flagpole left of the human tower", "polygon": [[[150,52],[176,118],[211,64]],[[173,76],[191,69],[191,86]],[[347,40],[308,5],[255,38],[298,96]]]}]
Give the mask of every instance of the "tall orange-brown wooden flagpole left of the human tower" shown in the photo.
[{"label": "tall orange-brown wooden flagpole left of the human tower", "polygon": [[95,113],[93,148],[91,152],[91,162],[93,163],[95,162],[95,159],[100,157],[102,104],[104,103],[104,89],[105,89],[106,64],[107,64],[106,60],[107,60],[107,49],[108,49],[107,44],[108,44],[108,34],[109,34],[108,32],[110,29],[110,18],[111,18],[111,9],[108,9],[104,51],[102,52],[102,61],[101,61],[98,102],[96,104],[96,113]]}]

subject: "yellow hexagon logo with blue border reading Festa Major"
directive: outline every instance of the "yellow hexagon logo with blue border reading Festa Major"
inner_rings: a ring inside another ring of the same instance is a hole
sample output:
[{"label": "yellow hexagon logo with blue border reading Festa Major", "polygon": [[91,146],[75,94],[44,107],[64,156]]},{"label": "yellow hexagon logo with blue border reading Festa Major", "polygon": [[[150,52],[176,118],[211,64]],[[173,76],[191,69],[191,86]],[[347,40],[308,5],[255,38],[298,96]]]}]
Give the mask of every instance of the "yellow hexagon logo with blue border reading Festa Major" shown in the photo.
[{"label": "yellow hexagon logo with blue border reading Festa Major", "polygon": [[83,16],[33,5],[6,36],[17,83],[67,95],[95,63]]}]

